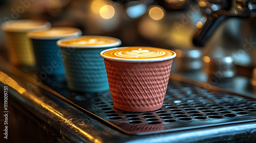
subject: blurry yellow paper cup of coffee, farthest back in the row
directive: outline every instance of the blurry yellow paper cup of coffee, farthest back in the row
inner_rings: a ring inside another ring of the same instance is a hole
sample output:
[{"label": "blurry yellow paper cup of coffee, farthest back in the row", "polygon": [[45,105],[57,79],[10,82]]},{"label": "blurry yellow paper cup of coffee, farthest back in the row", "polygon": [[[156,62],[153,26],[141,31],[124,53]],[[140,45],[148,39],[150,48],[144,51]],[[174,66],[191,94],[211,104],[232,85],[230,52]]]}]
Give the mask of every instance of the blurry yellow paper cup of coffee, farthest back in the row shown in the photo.
[{"label": "blurry yellow paper cup of coffee, farthest back in the row", "polygon": [[20,19],[2,24],[5,32],[9,61],[16,66],[34,66],[35,56],[27,32],[49,29],[51,24],[44,20]]}]

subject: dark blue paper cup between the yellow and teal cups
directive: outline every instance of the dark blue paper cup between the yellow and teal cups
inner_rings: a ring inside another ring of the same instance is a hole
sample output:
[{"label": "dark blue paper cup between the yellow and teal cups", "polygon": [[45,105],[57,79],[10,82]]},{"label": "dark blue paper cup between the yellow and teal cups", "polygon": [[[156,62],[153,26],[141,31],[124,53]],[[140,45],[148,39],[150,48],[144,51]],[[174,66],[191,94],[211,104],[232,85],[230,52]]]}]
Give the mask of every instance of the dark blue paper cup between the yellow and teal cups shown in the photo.
[{"label": "dark blue paper cup between the yellow and teal cups", "polygon": [[56,42],[61,38],[81,34],[79,29],[71,27],[54,27],[44,31],[29,32],[28,37],[32,40],[38,73],[45,72],[52,76],[65,75],[61,51]]}]

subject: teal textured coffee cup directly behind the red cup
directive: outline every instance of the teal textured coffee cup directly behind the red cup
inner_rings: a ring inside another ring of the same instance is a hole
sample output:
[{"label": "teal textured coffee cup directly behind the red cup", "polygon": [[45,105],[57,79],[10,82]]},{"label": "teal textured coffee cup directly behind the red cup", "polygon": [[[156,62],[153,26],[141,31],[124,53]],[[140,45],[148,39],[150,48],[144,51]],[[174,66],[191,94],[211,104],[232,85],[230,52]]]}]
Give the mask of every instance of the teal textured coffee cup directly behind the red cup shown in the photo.
[{"label": "teal textured coffee cup directly behind the red cup", "polygon": [[78,36],[58,40],[69,89],[81,92],[109,90],[100,52],[120,44],[119,39],[108,36]]}]

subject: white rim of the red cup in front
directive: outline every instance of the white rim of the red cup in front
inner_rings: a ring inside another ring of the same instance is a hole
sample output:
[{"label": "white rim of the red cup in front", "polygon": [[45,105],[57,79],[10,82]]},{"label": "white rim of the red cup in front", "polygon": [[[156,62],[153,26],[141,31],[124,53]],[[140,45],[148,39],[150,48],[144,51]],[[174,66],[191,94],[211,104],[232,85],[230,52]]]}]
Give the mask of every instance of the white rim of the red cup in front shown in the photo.
[{"label": "white rim of the red cup in front", "polygon": [[[107,49],[104,51],[100,52],[100,56],[106,60],[111,60],[111,61],[118,61],[118,62],[161,62],[161,61],[166,61],[166,60],[170,60],[176,57],[176,53],[172,50],[168,50],[168,49],[164,49],[167,51],[170,51],[173,53],[172,56],[169,57],[164,57],[164,58],[152,58],[152,59],[123,59],[123,58],[113,58],[113,57],[109,57],[109,56],[105,56],[104,53],[107,51],[111,51],[111,50],[116,50],[116,49],[125,49],[127,47],[133,47],[133,46],[125,46],[125,47],[115,47],[115,48],[111,48],[111,49]],[[151,46],[140,46],[140,47],[151,47]],[[153,47],[156,49],[161,49],[159,47]]]}]

